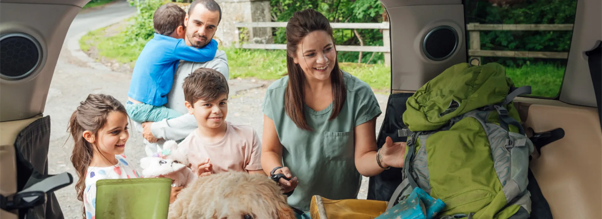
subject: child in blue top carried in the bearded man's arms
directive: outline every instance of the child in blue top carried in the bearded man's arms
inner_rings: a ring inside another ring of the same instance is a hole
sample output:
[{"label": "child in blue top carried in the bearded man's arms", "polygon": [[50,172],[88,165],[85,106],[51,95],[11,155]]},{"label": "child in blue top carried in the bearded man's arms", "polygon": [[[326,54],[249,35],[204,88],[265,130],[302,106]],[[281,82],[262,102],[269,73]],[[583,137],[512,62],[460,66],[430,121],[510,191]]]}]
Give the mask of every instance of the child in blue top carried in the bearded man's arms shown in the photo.
[{"label": "child in blue top carried in the bearded man's arms", "polygon": [[156,122],[181,116],[178,111],[163,106],[167,103],[180,59],[206,62],[216,55],[215,40],[198,49],[187,46],[184,41],[185,16],[186,12],[175,4],[162,5],[155,11],[155,35],[138,56],[126,102],[128,116],[135,122]]}]

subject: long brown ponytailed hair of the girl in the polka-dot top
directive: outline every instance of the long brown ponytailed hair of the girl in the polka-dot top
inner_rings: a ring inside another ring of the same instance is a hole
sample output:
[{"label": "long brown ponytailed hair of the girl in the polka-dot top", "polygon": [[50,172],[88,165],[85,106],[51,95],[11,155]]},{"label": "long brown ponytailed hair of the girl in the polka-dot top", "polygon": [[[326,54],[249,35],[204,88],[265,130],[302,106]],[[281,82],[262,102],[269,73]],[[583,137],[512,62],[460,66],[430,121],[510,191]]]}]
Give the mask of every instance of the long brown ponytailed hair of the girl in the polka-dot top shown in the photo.
[{"label": "long brown ponytailed hair of the girl in the polka-dot top", "polygon": [[[68,130],[73,142],[75,142],[71,163],[79,177],[75,184],[75,191],[77,192],[77,199],[82,202],[84,201],[87,169],[90,162],[92,162],[93,150],[98,150],[98,147],[84,139],[84,131],[90,131],[95,138],[98,137],[98,130],[107,123],[107,116],[111,112],[122,112],[127,115],[123,104],[110,95],[90,94],[85,101],[79,103],[79,106],[71,115],[71,119],[69,119]],[[83,206],[82,208],[85,218],[85,208]]]}]

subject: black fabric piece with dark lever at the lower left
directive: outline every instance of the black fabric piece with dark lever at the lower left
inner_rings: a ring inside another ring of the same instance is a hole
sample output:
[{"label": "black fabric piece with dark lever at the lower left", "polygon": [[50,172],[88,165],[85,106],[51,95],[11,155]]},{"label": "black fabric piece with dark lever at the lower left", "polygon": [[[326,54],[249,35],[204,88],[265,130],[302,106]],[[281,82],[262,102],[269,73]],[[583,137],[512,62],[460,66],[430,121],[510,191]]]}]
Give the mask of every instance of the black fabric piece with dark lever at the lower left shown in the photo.
[{"label": "black fabric piece with dark lever at the lower left", "polygon": [[17,193],[0,195],[5,211],[17,210],[19,219],[63,219],[54,191],[72,184],[67,173],[48,174],[50,116],[37,119],[23,128],[14,147],[17,167]]}]

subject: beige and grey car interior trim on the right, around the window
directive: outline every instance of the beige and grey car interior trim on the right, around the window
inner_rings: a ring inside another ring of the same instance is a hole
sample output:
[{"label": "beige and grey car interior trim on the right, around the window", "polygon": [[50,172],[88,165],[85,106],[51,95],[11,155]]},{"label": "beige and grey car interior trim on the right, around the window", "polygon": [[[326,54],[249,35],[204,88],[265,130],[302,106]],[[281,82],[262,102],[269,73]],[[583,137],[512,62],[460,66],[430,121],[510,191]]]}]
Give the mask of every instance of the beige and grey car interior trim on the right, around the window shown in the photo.
[{"label": "beige and grey car interior trim on the right, around the window", "polygon": [[[459,35],[467,35],[464,17],[458,16],[464,13],[459,7],[462,1],[380,2],[391,22],[391,94],[411,94],[446,68],[469,61],[468,40],[462,36],[458,37],[457,50],[441,61],[428,59],[429,52],[421,47],[425,35],[428,37],[425,33],[433,26],[452,26]],[[529,137],[557,128],[565,133],[562,139],[541,148],[541,155],[535,150],[530,161],[554,218],[600,218],[602,130],[585,55],[602,38],[600,8],[599,0],[577,2],[560,94],[556,98],[517,97],[514,101]],[[424,15],[426,11],[429,14]]]}]

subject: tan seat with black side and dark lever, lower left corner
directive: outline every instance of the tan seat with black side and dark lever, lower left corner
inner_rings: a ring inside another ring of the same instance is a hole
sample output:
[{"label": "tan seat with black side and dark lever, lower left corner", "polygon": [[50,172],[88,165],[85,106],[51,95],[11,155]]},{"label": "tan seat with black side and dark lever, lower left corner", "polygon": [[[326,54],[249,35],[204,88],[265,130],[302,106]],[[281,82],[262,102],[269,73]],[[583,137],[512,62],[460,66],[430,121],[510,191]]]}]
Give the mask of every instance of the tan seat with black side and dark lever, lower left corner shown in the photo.
[{"label": "tan seat with black side and dark lever, lower left corner", "polygon": [[54,191],[69,173],[48,175],[50,117],[0,122],[0,218],[63,218]]}]

